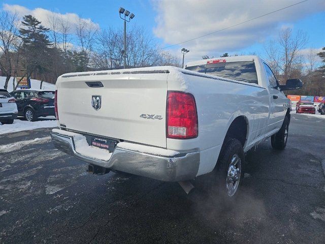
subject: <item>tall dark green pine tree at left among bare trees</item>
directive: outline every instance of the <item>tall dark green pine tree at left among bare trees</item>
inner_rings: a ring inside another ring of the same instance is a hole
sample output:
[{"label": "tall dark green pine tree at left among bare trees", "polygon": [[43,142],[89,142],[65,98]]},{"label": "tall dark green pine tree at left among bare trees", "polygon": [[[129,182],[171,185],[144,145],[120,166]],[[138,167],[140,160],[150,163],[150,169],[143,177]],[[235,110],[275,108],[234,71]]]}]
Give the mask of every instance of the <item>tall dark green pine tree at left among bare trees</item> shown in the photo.
[{"label": "tall dark green pine tree at left among bare trees", "polygon": [[19,33],[23,40],[22,52],[28,79],[33,72],[44,71],[49,66],[51,43],[47,36],[49,28],[44,27],[37,18],[25,15],[21,23],[23,27]]}]

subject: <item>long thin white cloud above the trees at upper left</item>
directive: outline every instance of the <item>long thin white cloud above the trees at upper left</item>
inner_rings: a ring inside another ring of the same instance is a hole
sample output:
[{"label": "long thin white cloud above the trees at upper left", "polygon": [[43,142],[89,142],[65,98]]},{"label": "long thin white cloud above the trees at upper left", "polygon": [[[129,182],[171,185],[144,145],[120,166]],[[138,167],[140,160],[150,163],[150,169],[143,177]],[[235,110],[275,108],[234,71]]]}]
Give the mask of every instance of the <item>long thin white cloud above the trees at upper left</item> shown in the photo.
[{"label": "long thin white cloud above the trees at upper left", "polygon": [[74,33],[75,26],[80,22],[80,20],[85,23],[88,28],[100,28],[99,24],[92,22],[90,18],[81,18],[75,13],[60,14],[42,8],[36,8],[31,10],[20,5],[9,4],[4,4],[3,9],[10,13],[16,13],[19,17],[23,17],[24,15],[30,14],[40,20],[42,24],[48,28],[51,28],[51,19],[54,19],[55,21],[57,21],[57,23],[62,20],[65,24],[69,25],[70,33]]}]

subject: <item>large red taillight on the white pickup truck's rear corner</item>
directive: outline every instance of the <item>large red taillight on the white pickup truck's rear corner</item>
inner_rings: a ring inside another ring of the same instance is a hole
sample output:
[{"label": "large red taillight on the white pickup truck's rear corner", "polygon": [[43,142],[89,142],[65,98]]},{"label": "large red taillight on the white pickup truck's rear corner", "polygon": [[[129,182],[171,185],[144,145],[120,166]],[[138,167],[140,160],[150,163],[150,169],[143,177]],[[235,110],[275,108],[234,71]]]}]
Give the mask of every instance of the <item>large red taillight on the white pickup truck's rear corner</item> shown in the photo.
[{"label": "large red taillight on the white pickup truck's rear corner", "polygon": [[167,138],[190,139],[198,137],[198,113],[192,94],[168,92]]}]

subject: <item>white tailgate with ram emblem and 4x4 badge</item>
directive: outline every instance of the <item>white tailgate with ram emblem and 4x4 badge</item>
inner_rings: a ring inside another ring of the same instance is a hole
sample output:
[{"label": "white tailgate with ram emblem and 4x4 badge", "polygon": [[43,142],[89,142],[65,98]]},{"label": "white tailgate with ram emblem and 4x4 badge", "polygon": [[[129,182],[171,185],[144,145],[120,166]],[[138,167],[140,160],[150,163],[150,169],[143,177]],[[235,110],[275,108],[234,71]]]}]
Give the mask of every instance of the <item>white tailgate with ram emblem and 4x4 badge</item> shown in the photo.
[{"label": "white tailgate with ram emblem and 4x4 badge", "polygon": [[[59,123],[75,131],[166,147],[167,76],[63,76],[57,82]],[[86,83],[99,81],[103,87]],[[98,97],[101,107],[96,110],[91,101]]]}]

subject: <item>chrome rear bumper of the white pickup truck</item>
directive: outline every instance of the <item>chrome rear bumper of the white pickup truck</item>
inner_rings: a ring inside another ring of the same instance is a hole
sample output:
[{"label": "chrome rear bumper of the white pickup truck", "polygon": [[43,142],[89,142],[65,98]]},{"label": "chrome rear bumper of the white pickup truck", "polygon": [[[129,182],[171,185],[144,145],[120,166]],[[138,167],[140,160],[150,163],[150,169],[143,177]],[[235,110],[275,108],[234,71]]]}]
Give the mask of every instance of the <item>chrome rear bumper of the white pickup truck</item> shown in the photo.
[{"label": "chrome rear bumper of the white pickup truck", "polygon": [[73,137],[51,132],[55,147],[90,164],[163,181],[193,179],[199,170],[200,153],[180,153],[174,157],[141,153],[115,147],[109,161],[83,156],[75,150]]}]

